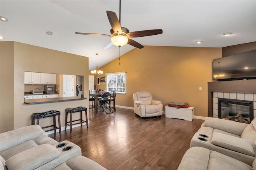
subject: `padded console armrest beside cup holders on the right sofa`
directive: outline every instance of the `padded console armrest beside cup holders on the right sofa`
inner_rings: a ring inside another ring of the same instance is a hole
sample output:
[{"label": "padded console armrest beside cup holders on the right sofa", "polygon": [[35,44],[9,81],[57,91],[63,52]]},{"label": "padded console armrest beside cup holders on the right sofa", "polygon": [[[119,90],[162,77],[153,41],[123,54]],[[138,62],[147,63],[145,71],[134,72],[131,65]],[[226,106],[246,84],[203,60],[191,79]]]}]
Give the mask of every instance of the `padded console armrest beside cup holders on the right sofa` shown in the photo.
[{"label": "padded console armrest beside cup holders on the right sofa", "polygon": [[230,136],[228,134],[215,133],[212,136],[211,143],[222,148],[227,148],[229,150],[234,150],[246,155],[255,156],[254,149],[250,142],[242,138]]}]

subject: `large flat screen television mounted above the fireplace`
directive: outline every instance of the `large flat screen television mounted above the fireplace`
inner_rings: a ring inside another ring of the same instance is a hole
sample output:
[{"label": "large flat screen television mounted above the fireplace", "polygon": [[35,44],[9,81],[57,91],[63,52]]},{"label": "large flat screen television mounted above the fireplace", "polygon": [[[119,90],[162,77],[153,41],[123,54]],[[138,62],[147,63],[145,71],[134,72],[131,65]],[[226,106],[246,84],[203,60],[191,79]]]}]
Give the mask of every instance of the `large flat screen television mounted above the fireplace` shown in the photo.
[{"label": "large flat screen television mounted above the fireplace", "polygon": [[213,60],[214,80],[256,79],[256,50]]}]

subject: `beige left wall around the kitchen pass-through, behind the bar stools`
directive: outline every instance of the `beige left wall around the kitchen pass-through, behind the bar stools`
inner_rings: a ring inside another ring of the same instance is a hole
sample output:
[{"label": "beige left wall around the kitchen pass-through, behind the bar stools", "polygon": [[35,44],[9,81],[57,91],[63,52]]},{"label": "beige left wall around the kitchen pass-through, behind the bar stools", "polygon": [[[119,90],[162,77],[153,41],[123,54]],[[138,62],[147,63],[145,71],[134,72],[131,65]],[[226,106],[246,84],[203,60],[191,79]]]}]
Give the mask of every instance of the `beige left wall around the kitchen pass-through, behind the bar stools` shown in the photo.
[{"label": "beige left wall around the kitchen pass-through, behind the bar stools", "polygon": [[[66,108],[88,106],[88,100],[24,105],[24,71],[82,75],[84,76],[82,90],[88,91],[88,57],[18,42],[1,41],[0,47],[1,132],[31,125],[32,113],[49,110],[61,112],[61,124],[64,126]],[[4,70],[2,61],[10,63],[10,68]],[[2,86],[3,81],[6,83],[4,86]],[[2,93],[3,91],[5,93]],[[46,125],[49,122],[51,123],[52,120],[46,118],[40,120],[40,125]]]}]

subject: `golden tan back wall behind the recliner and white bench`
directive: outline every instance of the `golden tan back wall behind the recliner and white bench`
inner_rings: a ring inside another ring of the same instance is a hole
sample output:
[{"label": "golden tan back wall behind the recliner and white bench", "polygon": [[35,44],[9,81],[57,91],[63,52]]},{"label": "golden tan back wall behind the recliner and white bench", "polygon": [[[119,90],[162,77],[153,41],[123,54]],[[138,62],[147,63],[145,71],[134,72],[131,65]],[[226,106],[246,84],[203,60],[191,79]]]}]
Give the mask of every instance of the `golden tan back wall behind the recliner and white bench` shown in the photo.
[{"label": "golden tan back wall behind the recliner and white bench", "polygon": [[116,105],[133,107],[132,94],[149,91],[164,106],[170,101],[188,102],[194,115],[207,117],[207,82],[212,81],[212,60],[220,57],[221,48],[145,46],[122,55],[121,65],[117,58],[100,70],[104,74],[127,71],[127,91],[117,94]]}]

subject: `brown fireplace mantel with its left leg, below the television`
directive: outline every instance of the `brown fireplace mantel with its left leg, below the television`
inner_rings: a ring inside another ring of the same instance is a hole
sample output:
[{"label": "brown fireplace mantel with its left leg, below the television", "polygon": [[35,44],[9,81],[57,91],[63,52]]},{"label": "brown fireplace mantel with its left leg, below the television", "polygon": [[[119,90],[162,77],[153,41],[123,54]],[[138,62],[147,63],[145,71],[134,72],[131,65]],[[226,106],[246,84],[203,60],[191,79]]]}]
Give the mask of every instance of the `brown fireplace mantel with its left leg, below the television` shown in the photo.
[{"label": "brown fireplace mantel with its left leg, below the television", "polygon": [[213,92],[256,94],[256,79],[208,82],[208,117],[212,117]]}]

